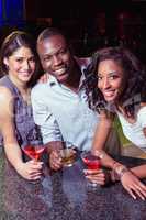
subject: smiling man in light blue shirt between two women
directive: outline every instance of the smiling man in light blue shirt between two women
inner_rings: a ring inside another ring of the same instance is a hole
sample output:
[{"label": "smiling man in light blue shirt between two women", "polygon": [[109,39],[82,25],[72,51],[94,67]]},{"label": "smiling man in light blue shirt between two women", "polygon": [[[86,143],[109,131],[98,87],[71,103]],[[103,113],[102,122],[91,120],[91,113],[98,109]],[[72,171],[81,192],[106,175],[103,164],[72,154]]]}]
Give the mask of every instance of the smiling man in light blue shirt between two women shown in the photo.
[{"label": "smiling man in light blue shirt between two women", "polygon": [[[79,150],[91,150],[99,114],[88,107],[83,87],[83,70],[90,58],[75,57],[65,35],[54,28],[40,34],[37,52],[44,70],[49,74],[47,82],[40,82],[32,90],[34,119],[44,143],[49,153],[61,141]],[[112,140],[112,144],[119,145],[115,134]],[[59,166],[59,160],[55,160],[54,168]]]}]

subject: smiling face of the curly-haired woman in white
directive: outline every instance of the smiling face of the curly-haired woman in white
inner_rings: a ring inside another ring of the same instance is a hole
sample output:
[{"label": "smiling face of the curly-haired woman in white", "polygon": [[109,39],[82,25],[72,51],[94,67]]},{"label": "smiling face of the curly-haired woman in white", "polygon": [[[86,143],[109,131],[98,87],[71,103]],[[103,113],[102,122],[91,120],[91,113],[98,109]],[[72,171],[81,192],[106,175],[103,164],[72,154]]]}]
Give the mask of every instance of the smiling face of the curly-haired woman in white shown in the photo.
[{"label": "smiling face of the curly-haired woman in white", "polygon": [[123,91],[123,68],[117,62],[105,59],[98,66],[98,87],[104,99],[110,102],[117,101]]}]

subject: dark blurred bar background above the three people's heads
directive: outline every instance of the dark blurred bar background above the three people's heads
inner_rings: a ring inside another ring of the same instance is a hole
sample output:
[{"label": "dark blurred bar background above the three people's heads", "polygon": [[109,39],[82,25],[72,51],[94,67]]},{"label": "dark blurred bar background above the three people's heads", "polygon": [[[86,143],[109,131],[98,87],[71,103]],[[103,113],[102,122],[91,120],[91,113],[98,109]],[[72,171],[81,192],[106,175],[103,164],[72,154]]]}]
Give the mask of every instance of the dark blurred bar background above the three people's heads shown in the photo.
[{"label": "dark blurred bar background above the three people's heads", "polygon": [[12,30],[37,37],[47,26],[63,29],[78,56],[125,45],[146,61],[146,0],[0,0],[0,43]]}]

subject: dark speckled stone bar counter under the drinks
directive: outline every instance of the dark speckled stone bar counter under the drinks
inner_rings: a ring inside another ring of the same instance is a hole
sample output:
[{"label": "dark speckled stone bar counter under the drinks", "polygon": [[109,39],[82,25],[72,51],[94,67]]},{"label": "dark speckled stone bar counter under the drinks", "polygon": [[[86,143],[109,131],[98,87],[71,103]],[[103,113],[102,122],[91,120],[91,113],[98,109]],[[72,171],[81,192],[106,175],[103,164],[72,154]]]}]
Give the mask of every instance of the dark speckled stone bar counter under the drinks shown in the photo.
[{"label": "dark speckled stone bar counter under the drinks", "polygon": [[[128,166],[146,160],[121,157]],[[106,187],[87,186],[83,164],[52,172],[44,167],[42,180],[23,179],[5,163],[2,220],[146,220],[146,201],[134,200],[121,183]]]}]

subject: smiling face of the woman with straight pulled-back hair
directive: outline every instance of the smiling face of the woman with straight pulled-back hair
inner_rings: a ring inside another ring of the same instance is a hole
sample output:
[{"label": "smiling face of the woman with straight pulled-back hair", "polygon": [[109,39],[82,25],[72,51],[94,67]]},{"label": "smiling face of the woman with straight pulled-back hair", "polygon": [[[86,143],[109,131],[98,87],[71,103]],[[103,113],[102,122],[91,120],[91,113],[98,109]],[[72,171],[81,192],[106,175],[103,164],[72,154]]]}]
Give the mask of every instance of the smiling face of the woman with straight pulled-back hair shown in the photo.
[{"label": "smiling face of the woman with straight pulled-back hair", "polygon": [[35,72],[35,58],[29,47],[22,46],[4,57],[3,63],[8,67],[9,76],[14,81],[26,84]]}]

